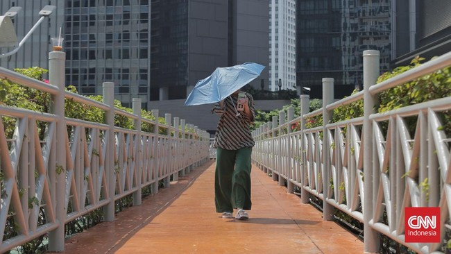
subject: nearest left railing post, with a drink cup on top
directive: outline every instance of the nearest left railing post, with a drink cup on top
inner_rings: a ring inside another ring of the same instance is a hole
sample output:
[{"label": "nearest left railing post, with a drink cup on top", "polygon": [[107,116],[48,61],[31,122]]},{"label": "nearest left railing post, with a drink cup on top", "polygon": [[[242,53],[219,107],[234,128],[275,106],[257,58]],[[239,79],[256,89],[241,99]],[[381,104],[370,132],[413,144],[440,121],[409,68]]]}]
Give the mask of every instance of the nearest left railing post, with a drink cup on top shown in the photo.
[{"label": "nearest left railing post, with a drink cup on top", "polygon": [[65,60],[66,53],[52,51],[49,53],[49,82],[58,87],[58,94],[51,96],[51,113],[56,115],[56,168],[62,167],[62,172],[56,173],[56,203],[54,204],[58,228],[49,232],[49,251],[65,250],[66,222],[66,147],[67,129],[65,121]]}]

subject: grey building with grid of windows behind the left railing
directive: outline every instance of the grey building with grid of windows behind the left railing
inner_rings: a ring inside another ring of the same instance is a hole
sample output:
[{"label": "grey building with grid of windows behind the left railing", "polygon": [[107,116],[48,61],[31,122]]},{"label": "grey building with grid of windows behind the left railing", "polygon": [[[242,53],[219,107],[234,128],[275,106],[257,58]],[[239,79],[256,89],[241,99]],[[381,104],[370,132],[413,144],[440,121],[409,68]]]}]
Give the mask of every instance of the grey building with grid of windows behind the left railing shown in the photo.
[{"label": "grey building with grid of windows behind the left railing", "polygon": [[[65,1],[66,84],[80,94],[101,94],[115,84],[115,99],[131,107],[149,95],[151,6],[147,0]],[[136,1],[132,1],[136,2]]]}]

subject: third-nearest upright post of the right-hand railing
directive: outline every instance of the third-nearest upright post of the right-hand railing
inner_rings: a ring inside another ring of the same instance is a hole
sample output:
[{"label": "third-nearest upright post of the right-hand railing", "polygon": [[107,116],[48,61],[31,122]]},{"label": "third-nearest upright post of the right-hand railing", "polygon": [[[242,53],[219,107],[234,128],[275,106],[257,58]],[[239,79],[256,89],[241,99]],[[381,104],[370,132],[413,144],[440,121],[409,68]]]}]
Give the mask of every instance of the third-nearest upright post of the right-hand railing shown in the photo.
[{"label": "third-nearest upright post of the right-hand railing", "polygon": [[305,151],[305,136],[303,131],[305,130],[305,118],[304,115],[307,115],[309,113],[309,95],[302,94],[300,96],[300,130],[301,130],[301,137],[300,137],[300,177],[301,177],[301,186],[302,189],[300,190],[300,202],[303,204],[309,203],[309,192],[305,189],[305,175],[306,175],[306,169],[307,169],[307,151]]}]

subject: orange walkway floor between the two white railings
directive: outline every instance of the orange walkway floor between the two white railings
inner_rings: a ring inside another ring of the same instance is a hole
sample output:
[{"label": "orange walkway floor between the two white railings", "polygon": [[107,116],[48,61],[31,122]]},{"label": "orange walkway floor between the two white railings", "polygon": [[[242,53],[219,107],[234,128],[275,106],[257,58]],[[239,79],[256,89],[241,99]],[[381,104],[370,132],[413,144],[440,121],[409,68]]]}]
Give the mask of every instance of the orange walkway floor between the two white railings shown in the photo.
[{"label": "orange walkway floor between the two white railings", "polygon": [[363,242],[253,166],[250,219],[214,209],[214,160],[66,240],[65,253],[363,253]]}]

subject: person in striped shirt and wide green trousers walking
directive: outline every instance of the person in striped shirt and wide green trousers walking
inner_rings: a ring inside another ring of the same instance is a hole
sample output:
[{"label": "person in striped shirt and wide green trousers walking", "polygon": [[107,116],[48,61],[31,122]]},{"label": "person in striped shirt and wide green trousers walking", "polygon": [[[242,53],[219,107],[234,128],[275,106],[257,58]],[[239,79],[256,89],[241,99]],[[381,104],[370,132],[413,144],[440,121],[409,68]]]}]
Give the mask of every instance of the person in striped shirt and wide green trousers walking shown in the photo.
[{"label": "person in striped shirt and wide green trousers walking", "polygon": [[[238,103],[240,102],[240,103]],[[216,103],[212,110],[220,115],[216,137],[214,203],[224,219],[248,219],[250,210],[250,155],[255,145],[250,124],[255,119],[253,98],[237,90]]]}]

